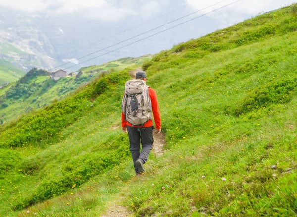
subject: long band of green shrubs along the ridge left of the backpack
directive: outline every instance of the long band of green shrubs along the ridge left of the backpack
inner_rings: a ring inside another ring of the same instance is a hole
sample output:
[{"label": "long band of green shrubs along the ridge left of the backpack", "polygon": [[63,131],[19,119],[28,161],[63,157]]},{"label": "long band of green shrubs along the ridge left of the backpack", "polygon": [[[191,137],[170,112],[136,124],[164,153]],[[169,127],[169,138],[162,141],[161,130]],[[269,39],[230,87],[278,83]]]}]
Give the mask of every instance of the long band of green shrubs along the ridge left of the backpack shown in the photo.
[{"label": "long band of green shrubs along the ridge left of the backpack", "polygon": [[88,88],[81,88],[71,98],[21,117],[16,124],[7,125],[1,132],[0,147],[18,147],[25,142],[57,139],[57,132],[93,108],[88,106],[90,101],[94,101],[115,84],[123,85],[129,78],[127,71],[108,74],[94,81]]}]

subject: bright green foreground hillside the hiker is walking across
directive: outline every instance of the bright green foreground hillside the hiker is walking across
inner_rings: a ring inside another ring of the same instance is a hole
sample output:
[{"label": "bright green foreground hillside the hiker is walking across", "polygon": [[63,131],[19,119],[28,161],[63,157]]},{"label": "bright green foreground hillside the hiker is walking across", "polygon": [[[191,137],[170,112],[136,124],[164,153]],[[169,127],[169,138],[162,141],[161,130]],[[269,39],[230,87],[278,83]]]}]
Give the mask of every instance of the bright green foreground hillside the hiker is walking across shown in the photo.
[{"label": "bright green foreground hillside the hiker is walking across", "polygon": [[155,55],[166,152],[135,177],[128,69],[0,126],[2,216],[297,215],[297,6]]}]

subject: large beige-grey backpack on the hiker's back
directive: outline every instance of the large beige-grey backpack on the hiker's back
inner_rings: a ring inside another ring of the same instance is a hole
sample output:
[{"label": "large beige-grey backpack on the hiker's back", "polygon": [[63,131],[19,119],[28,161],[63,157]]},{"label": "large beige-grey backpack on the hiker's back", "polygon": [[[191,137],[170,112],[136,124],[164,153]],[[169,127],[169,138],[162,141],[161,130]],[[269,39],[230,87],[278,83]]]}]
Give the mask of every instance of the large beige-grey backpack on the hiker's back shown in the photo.
[{"label": "large beige-grey backpack on the hiker's back", "polygon": [[122,101],[125,120],[132,125],[144,125],[152,119],[149,86],[143,80],[135,79],[126,82]]}]

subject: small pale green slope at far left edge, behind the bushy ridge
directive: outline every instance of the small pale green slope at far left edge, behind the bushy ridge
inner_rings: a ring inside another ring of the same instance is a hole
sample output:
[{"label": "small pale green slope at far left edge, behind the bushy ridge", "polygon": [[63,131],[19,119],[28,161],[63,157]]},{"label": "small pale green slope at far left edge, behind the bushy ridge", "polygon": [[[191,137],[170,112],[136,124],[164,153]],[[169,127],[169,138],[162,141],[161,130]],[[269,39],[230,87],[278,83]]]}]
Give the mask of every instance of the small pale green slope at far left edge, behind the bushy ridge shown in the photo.
[{"label": "small pale green slope at far left edge, behind the bushy ridge", "polygon": [[20,68],[0,59],[0,86],[6,82],[17,81],[24,74]]}]

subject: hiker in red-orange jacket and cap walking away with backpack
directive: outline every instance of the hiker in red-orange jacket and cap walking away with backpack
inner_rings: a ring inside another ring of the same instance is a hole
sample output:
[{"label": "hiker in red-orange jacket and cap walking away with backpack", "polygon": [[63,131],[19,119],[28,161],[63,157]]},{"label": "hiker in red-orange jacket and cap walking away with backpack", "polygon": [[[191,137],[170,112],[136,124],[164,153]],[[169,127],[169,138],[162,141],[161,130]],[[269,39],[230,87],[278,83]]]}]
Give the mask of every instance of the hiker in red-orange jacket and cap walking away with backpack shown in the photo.
[{"label": "hiker in red-orange jacket and cap walking away with backpack", "polygon": [[[122,130],[128,130],[130,151],[137,175],[144,173],[144,163],[152,149],[152,114],[155,132],[161,132],[161,118],[156,92],[146,85],[147,74],[139,71],[135,79],[126,82],[122,101]],[[140,152],[140,143],[142,150]]]}]

